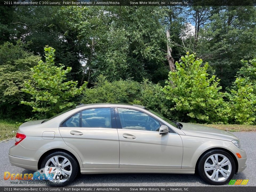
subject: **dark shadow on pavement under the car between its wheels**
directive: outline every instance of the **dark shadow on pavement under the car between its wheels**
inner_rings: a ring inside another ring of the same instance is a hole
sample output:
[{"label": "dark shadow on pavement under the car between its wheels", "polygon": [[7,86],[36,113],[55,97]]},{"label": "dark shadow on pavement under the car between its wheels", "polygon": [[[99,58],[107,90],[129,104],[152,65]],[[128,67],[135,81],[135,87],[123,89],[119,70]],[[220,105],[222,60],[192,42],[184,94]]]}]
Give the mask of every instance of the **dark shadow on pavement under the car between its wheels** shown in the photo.
[{"label": "dark shadow on pavement under the car between its wheels", "polygon": [[[193,184],[192,184],[193,183]],[[75,179],[72,186],[187,186],[207,185],[197,174],[88,174]]]}]

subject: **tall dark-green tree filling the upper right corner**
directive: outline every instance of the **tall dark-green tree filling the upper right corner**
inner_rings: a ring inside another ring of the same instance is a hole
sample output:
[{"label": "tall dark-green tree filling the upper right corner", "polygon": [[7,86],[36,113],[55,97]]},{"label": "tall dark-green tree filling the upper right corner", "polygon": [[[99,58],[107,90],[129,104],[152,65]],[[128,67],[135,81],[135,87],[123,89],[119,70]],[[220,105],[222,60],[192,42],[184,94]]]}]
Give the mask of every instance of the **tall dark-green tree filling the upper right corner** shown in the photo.
[{"label": "tall dark-green tree filling the upper right corner", "polygon": [[241,59],[255,57],[255,15],[254,6],[213,7],[209,22],[198,34],[195,51],[210,63],[223,88],[235,81]]}]

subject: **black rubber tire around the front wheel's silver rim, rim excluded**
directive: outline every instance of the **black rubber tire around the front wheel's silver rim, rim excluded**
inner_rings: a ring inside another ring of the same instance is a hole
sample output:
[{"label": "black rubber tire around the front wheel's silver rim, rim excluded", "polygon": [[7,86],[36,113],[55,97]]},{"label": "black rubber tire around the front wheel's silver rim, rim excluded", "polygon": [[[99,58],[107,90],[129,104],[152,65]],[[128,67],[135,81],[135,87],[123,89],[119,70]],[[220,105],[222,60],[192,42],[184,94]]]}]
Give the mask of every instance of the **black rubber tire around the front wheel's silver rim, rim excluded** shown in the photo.
[{"label": "black rubber tire around the front wheel's silver rim, rim excluded", "polygon": [[[208,157],[210,157],[213,154],[225,155],[229,159],[229,161],[231,163],[231,166],[232,166],[231,173],[230,173],[229,177],[225,181],[221,181],[221,182],[212,181],[210,178],[207,177],[207,175],[205,173],[205,170],[204,170],[205,161],[206,161],[206,159]],[[198,174],[201,176],[201,178],[205,182],[210,183],[212,185],[223,185],[223,184],[226,184],[226,183],[228,183],[230,181],[230,179],[235,174],[235,161],[234,161],[233,157],[229,153],[224,151],[224,150],[217,150],[216,149],[216,150],[208,151],[207,153],[203,154],[202,157],[199,160],[199,163],[198,163]]]}]

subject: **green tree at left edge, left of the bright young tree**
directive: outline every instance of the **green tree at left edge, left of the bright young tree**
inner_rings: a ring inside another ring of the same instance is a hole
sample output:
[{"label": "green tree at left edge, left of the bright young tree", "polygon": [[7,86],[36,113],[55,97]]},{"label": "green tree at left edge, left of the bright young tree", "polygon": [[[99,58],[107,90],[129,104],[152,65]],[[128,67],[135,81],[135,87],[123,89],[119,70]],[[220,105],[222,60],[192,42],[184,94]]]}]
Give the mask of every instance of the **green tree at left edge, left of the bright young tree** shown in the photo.
[{"label": "green tree at left edge, left of the bright young tree", "polygon": [[31,77],[30,67],[35,66],[40,57],[24,50],[25,45],[18,41],[16,45],[6,42],[0,45],[0,115],[2,118],[22,120],[30,113],[28,106],[21,106],[20,101],[28,95],[21,91],[24,81]]}]

